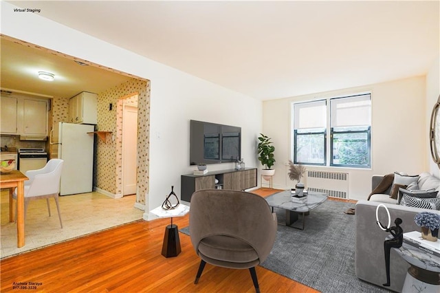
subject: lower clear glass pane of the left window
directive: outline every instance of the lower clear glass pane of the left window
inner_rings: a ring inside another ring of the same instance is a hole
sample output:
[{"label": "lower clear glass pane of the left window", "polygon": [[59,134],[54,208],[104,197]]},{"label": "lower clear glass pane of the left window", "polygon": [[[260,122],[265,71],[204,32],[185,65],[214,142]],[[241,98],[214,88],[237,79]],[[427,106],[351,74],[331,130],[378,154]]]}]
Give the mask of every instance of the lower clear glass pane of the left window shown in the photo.
[{"label": "lower clear glass pane of the left window", "polygon": [[324,133],[296,134],[296,163],[325,164]]}]

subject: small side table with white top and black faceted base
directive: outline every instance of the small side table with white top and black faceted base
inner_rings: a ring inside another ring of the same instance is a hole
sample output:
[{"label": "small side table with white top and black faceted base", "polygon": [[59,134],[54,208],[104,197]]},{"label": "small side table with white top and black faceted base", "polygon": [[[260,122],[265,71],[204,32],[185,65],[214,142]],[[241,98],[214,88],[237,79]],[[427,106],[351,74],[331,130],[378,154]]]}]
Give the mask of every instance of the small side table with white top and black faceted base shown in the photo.
[{"label": "small side table with white top and black faceted base", "polygon": [[179,204],[177,208],[172,210],[164,210],[162,206],[158,206],[150,211],[159,218],[171,218],[171,224],[165,228],[164,243],[162,244],[162,255],[164,257],[177,257],[181,252],[179,229],[177,225],[173,224],[173,217],[183,217],[189,211],[190,207],[184,204]]}]

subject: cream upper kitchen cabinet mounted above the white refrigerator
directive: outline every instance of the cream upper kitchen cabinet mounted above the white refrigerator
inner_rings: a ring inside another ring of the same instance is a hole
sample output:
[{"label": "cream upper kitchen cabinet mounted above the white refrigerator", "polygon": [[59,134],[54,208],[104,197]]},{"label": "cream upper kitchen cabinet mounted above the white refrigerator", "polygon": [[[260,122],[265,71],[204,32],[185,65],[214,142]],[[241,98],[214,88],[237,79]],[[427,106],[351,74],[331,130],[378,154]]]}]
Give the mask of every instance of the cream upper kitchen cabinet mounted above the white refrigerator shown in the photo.
[{"label": "cream upper kitchen cabinet mounted above the white refrigerator", "polygon": [[98,95],[83,91],[70,98],[69,122],[98,124]]}]

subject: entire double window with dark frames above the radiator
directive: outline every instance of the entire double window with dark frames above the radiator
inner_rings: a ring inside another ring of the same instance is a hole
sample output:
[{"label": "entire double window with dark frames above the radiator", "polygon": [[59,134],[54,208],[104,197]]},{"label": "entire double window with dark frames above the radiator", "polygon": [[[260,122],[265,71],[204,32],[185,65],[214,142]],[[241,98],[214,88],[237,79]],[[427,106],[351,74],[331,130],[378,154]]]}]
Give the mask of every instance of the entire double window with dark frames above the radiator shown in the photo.
[{"label": "entire double window with dark frames above the radiator", "polygon": [[329,166],[371,166],[371,94],[294,103],[293,118],[294,163],[327,166],[328,148]]}]

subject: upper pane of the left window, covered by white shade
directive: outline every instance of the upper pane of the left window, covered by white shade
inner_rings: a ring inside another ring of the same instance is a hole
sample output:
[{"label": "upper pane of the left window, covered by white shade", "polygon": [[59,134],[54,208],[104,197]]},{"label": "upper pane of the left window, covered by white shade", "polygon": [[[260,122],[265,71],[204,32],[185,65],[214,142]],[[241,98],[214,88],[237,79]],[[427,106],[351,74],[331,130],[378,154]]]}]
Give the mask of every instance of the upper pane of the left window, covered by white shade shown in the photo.
[{"label": "upper pane of the left window, covered by white shade", "polygon": [[303,102],[294,104],[295,129],[326,127],[326,101]]}]

